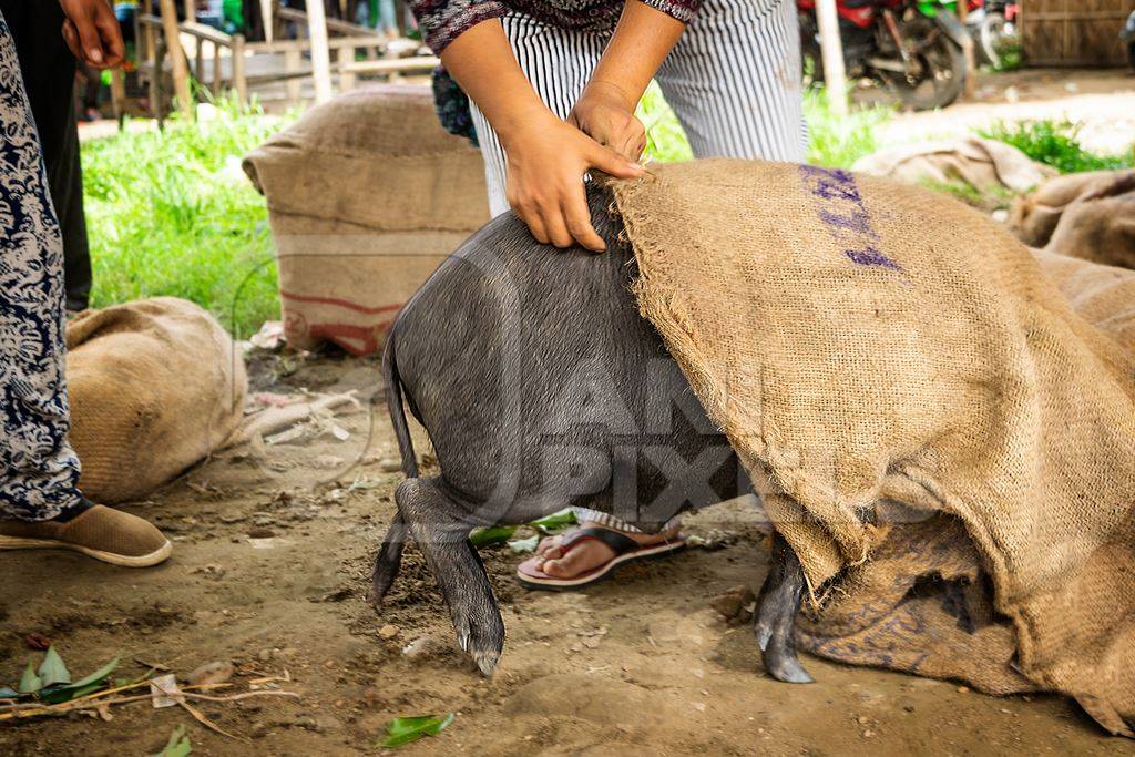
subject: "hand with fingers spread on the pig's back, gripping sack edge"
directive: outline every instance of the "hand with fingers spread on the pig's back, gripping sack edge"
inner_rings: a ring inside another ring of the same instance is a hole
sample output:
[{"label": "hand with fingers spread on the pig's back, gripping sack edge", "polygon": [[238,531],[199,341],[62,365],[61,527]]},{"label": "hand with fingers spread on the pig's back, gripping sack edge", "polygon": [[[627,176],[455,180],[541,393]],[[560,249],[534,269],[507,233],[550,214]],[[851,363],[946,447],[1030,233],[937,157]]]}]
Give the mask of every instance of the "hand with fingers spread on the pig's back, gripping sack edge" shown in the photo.
[{"label": "hand with fingers spread on the pig's back, gripping sack edge", "polygon": [[520,118],[501,133],[508,158],[508,204],[541,244],[594,252],[606,244],[591,226],[583,175],[598,169],[616,178],[641,176],[642,167],[562,121],[547,110]]}]

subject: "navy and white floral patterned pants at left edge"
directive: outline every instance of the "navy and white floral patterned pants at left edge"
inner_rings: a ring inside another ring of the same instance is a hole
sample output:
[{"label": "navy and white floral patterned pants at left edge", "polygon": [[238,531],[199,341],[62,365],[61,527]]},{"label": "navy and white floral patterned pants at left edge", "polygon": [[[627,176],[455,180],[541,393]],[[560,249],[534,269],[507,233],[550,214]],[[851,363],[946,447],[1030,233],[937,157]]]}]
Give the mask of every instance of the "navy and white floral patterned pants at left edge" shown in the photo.
[{"label": "navy and white floral patterned pants at left edge", "polygon": [[0,16],[0,518],[47,520],[82,502],[64,358],[62,238]]}]

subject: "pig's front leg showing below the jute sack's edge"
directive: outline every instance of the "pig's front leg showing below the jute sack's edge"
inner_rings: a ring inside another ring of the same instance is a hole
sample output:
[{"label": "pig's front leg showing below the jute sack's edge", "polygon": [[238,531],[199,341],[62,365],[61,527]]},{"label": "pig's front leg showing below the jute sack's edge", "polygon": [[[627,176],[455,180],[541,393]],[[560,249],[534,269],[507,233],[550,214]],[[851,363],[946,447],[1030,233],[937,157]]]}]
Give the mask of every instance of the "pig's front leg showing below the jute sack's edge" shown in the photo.
[{"label": "pig's front leg showing below the jute sack's edge", "polygon": [[757,597],[754,631],[764,653],[765,670],[777,681],[812,683],[796,656],[796,615],[804,597],[804,569],[792,547],[773,533],[772,566]]}]

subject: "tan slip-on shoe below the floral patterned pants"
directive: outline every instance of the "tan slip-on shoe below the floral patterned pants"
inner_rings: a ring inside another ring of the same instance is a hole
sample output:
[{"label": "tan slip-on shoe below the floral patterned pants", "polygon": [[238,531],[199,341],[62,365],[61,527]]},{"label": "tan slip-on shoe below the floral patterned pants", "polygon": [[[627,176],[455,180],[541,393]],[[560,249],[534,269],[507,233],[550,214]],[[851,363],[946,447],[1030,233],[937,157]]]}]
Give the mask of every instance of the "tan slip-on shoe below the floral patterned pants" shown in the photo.
[{"label": "tan slip-on shoe below the floral patterned pants", "polygon": [[0,549],[59,548],[121,567],[157,565],[174,545],[152,523],[102,505],[69,521],[0,521]]}]

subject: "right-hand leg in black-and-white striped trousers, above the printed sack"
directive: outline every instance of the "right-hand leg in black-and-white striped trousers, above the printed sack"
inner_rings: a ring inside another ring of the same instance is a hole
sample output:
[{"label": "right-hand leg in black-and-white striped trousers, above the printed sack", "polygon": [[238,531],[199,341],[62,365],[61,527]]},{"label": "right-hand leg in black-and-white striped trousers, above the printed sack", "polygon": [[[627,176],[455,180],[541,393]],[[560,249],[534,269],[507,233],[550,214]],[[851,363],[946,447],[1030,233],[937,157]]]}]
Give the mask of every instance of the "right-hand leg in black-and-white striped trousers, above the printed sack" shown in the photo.
[{"label": "right-hand leg in black-and-white striped trousers, above the printed sack", "polygon": [[705,0],[656,77],[696,157],[804,161],[796,12],[791,0]]}]

